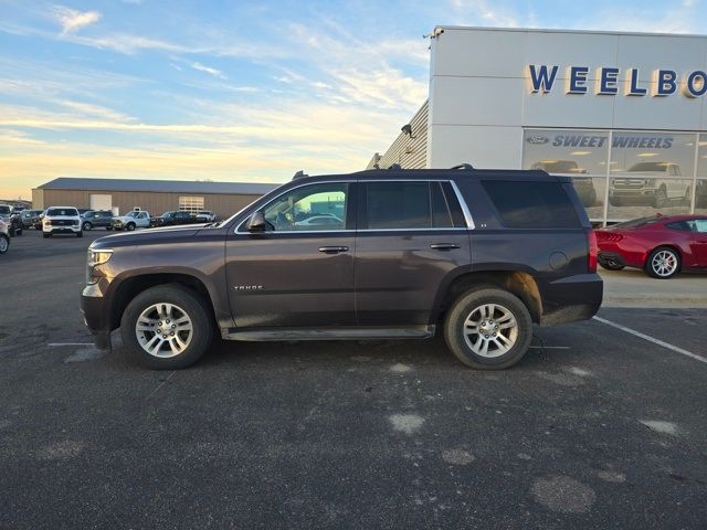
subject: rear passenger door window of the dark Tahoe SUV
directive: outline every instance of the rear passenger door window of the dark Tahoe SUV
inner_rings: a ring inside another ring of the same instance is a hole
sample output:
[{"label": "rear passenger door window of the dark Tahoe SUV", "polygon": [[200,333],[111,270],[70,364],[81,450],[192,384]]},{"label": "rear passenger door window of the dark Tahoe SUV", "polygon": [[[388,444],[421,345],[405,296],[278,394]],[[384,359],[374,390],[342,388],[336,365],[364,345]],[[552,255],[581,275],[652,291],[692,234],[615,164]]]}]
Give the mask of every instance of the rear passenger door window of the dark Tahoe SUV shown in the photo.
[{"label": "rear passenger door window of the dark Tahoe SUV", "polygon": [[366,182],[361,229],[411,230],[455,226],[449,194],[436,181]]}]

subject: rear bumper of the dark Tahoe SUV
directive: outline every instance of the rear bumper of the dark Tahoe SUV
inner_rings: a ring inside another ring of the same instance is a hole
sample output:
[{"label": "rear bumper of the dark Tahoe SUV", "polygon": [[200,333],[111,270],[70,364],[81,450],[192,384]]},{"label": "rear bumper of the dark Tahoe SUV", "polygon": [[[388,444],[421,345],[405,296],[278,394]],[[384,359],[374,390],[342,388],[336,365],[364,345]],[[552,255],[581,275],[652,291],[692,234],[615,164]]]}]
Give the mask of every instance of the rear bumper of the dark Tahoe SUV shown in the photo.
[{"label": "rear bumper of the dark Tahoe SUV", "polygon": [[592,318],[604,295],[598,274],[579,274],[546,284],[541,289],[540,326],[555,326]]}]

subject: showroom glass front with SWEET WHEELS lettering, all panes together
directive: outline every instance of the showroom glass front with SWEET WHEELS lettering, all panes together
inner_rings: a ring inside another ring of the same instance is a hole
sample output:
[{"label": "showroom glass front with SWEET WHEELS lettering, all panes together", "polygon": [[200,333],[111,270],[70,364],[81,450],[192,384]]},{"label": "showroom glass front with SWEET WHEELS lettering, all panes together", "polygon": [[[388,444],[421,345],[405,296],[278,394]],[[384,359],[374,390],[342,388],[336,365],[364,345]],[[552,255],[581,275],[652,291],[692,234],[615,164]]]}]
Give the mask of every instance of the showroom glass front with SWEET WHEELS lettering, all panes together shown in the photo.
[{"label": "showroom glass front with SWEET WHEELS lettering, all panes together", "polygon": [[707,135],[526,129],[523,160],[524,169],[572,177],[595,222],[707,213]]}]

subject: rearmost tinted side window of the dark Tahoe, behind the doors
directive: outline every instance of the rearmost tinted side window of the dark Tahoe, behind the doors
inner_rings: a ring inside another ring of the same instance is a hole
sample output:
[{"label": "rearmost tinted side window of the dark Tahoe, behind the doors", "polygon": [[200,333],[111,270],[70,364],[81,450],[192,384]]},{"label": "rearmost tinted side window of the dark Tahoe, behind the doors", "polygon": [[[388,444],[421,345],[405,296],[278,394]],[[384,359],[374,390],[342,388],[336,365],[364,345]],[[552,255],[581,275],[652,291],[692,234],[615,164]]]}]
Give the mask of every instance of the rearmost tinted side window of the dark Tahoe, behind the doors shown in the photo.
[{"label": "rearmost tinted side window of the dark Tahoe, behind the doors", "polygon": [[559,182],[484,181],[484,189],[511,229],[574,229],[581,221]]}]

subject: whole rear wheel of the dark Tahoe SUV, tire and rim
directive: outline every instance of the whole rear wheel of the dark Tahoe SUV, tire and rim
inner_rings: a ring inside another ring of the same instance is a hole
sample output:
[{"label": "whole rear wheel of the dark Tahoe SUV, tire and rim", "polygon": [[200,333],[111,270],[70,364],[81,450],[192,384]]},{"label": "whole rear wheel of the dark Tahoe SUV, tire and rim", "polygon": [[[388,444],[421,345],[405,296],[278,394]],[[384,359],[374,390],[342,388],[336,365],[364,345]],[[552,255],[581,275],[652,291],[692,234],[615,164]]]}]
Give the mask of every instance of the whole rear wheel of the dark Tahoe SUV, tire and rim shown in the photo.
[{"label": "whole rear wheel of the dark Tahoe SUV, tire and rim", "polygon": [[517,296],[484,287],[457,298],[444,321],[444,339],[467,367],[503,370],[528,351],[532,319]]}]

